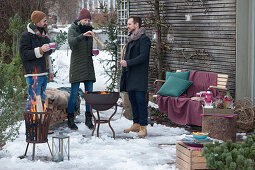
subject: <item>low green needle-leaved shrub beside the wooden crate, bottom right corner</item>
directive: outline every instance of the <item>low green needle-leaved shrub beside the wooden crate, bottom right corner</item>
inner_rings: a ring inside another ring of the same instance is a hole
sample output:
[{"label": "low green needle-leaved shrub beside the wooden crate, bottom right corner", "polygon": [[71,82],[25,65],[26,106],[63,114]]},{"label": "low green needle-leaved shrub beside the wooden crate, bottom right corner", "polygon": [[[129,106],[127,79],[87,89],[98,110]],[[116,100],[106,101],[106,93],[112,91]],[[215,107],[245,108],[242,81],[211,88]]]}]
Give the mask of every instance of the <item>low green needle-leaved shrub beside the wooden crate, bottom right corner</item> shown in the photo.
[{"label": "low green needle-leaved shrub beside the wooden crate, bottom right corner", "polygon": [[255,166],[255,135],[248,136],[243,142],[206,144],[203,156],[210,169],[252,170]]}]

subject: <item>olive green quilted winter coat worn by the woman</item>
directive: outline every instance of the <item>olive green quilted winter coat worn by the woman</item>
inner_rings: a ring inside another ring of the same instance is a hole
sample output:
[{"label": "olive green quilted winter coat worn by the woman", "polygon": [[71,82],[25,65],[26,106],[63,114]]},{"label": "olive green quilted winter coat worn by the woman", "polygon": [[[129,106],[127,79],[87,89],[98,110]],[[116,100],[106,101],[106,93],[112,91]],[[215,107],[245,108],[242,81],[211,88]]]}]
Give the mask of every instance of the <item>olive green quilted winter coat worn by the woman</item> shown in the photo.
[{"label": "olive green quilted winter coat worn by the woman", "polygon": [[68,43],[72,50],[69,72],[70,83],[86,80],[95,82],[92,59],[93,38],[83,36],[78,25],[73,23],[68,30]]}]

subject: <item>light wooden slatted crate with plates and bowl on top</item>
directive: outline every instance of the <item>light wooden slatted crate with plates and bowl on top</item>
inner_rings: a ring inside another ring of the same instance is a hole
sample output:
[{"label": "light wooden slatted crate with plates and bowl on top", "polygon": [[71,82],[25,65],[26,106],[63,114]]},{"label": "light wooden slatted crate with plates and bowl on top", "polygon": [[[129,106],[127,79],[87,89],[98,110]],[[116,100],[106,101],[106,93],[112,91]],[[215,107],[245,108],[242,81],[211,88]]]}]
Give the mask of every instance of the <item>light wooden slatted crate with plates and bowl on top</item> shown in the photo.
[{"label": "light wooden slatted crate with plates and bowl on top", "polygon": [[179,170],[207,169],[206,159],[202,157],[201,149],[193,149],[178,142],[176,144],[176,168]]}]

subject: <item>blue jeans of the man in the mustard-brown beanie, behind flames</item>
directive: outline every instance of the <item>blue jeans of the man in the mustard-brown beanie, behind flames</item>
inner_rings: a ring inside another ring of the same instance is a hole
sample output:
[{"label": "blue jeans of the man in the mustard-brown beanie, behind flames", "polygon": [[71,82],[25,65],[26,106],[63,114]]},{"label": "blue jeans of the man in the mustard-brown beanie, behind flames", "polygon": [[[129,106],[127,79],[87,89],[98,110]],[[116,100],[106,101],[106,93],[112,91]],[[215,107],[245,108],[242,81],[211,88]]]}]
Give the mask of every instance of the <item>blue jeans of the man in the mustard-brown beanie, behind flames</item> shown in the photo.
[{"label": "blue jeans of the man in the mustard-brown beanie, behind flames", "polygon": [[[48,83],[48,77],[45,76],[29,76],[26,77],[26,82],[28,85],[28,101],[26,105],[26,110],[31,109],[31,100],[35,101],[35,97],[41,95],[42,101],[46,100],[45,90]],[[35,96],[36,94],[36,96]]]}]

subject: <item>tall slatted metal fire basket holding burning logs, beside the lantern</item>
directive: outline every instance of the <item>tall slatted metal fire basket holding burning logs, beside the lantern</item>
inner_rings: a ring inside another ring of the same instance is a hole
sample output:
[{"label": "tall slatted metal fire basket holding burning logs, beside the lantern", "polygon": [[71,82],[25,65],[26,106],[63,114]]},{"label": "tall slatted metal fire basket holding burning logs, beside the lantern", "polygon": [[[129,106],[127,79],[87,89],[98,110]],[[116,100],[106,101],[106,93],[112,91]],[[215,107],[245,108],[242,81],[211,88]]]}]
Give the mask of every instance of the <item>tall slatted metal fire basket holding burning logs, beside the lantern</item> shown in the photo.
[{"label": "tall slatted metal fire basket holding burning logs, beside the lantern", "polygon": [[27,147],[24,156],[27,154],[28,146],[33,143],[33,155],[32,160],[35,156],[35,144],[36,143],[47,143],[51,156],[52,152],[48,143],[48,129],[51,120],[52,112],[24,112],[24,119],[26,125],[26,142]]}]

